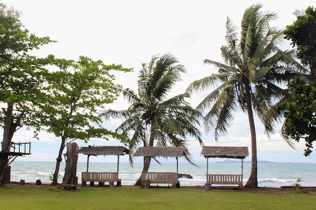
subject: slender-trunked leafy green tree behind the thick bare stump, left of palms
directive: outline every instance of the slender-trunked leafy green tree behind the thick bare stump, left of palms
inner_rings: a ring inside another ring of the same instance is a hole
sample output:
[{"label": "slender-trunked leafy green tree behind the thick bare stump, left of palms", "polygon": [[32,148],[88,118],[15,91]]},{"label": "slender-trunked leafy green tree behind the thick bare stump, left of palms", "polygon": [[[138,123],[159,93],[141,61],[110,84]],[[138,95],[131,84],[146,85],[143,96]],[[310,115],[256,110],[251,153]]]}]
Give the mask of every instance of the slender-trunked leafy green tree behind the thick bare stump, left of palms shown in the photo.
[{"label": "slender-trunked leafy green tree behind the thick bare stump, left of palms", "polygon": [[40,123],[44,129],[61,137],[61,146],[52,185],[58,184],[62,154],[67,143],[76,139],[119,138],[127,144],[128,137],[101,125],[98,111],[118,96],[111,70],[130,71],[121,65],[106,65],[101,60],[81,56],[79,61],[60,60],[61,69],[47,74],[43,88],[45,98],[39,101]]}]

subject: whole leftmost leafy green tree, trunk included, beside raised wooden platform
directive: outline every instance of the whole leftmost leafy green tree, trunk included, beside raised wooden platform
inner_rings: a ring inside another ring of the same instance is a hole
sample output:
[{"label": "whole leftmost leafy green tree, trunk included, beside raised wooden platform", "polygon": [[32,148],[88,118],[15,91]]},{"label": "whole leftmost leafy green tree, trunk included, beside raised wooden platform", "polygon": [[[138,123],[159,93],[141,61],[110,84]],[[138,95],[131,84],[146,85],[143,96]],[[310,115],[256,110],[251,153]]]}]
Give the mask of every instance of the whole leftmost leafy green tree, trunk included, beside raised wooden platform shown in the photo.
[{"label": "whole leftmost leafy green tree, trunk included, beside raised wooden platform", "polygon": [[[29,54],[32,49],[52,42],[49,37],[37,37],[24,29],[19,18],[21,13],[0,4],[0,102],[7,104],[0,119],[4,128],[1,152],[10,151],[10,142],[15,131],[24,125],[34,123],[27,113],[34,111],[33,102],[43,82],[44,66],[54,56],[37,58]],[[0,156],[0,186],[9,164],[10,156]]]}]

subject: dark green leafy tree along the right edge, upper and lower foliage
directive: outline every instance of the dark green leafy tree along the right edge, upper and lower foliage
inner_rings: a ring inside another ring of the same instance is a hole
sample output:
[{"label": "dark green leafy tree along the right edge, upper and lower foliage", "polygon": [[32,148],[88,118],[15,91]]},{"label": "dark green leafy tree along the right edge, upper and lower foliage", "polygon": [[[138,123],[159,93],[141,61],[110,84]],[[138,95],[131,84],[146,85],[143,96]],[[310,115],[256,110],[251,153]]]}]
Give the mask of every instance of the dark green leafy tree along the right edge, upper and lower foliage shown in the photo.
[{"label": "dark green leafy tree along the right edge, upper and lower foliage", "polygon": [[304,13],[297,14],[297,20],[286,26],[285,38],[297,46],[297,57],[309,66],[310,72],[304,77],[289,83],[292,94],[284,113],[285,139],[303,138],[306,142],[305,156],[312,152],[312,143],[316,140],[316,9],[308,7]]}]

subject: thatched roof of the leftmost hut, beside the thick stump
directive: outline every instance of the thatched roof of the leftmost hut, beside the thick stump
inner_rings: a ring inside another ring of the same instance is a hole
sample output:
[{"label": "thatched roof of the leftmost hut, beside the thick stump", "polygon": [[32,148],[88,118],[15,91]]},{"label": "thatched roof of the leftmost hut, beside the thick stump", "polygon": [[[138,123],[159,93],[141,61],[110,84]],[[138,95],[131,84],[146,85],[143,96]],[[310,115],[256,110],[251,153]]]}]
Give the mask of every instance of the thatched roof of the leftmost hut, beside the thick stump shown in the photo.
[{"label": "thatched roof of the leftmost hut, beside the thick stump", "polygon": [[84,155],[125,155],[128,154],[128,150],[122,146],[89,146],[82,147],[78,153]]}]

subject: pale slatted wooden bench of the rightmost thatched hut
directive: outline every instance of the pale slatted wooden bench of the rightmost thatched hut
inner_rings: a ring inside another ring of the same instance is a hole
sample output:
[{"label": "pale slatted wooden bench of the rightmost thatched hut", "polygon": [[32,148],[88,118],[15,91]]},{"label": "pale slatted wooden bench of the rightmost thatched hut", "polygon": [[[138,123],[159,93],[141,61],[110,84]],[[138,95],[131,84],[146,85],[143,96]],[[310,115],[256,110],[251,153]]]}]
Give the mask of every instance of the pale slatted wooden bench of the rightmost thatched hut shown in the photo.
[{"label": "pale slatted wooden bench of the rightmost thatched hut", "polygon": [[207,184],[238,184],[243,187],[241,174],[206,174]]}]

